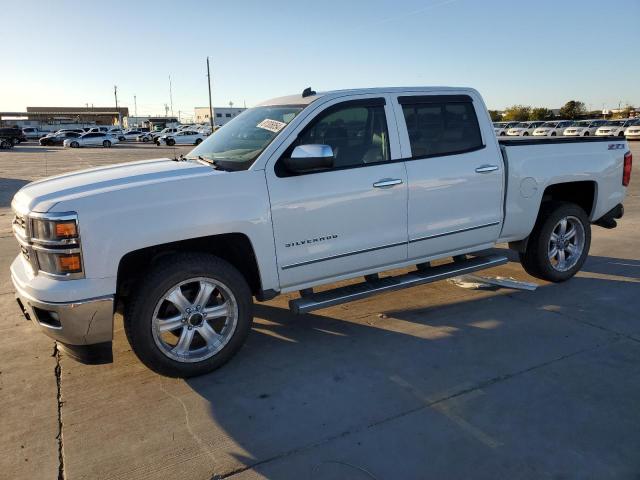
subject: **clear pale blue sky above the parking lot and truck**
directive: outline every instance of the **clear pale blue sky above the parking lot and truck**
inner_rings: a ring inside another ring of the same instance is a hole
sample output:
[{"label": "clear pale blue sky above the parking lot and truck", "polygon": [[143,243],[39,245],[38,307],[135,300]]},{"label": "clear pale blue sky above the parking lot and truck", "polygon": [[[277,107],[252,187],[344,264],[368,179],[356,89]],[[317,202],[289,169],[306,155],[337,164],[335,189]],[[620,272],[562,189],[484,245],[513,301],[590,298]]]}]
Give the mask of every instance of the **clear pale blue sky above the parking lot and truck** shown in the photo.
[{"label": "clear pale blue sky above the parking lot and truck", "polygon": [[[193,115],[342,88],[476,88],[489,108],[640,105],[640,0],[0,0],[0,111]],[[9,48],[11,47],[11,48]]]}]

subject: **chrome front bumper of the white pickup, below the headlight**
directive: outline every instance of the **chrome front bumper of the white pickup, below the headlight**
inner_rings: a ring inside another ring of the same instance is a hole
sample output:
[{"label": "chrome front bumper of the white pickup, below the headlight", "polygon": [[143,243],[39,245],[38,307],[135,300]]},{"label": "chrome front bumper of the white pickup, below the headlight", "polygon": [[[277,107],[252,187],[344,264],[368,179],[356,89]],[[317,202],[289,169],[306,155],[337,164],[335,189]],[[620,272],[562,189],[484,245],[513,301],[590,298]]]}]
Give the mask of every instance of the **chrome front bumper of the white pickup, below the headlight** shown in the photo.
[{"label": "chrome front bumper of the white pickup, below the headlight", "polygon": [[44,302],[27,295],[11,277],[27,320],[49,337],[68,345],[92,345],[113,338],[113,295],[75,302]]}]

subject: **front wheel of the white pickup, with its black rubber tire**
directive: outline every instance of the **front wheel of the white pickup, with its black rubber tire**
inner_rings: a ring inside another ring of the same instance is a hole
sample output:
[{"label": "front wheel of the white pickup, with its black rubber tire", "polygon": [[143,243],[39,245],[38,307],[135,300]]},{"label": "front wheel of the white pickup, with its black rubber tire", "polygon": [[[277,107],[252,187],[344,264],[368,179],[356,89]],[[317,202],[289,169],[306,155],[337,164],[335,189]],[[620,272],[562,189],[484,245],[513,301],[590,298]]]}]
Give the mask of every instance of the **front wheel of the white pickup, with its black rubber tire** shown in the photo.
[{"label": "front wheel of the white pickup, with its black rubber tire", "polygon": [[[203,284],[214,289],[208,301],[196,305]],[[213,255],[187,253],[165,257],[151,268],[135,291],[125,308],[125,332],[142,363],[161,375],[188,378],[221,367],[242,347],[251,329],[253,304],[246,280],[235,267]],[[176,291],[180,294],[174,298],[183,302],[180,309],[177,307],[180,302],[167,299]],[[200,312],[222,305],[227,305],[226,316],[202,318]],[[170,325],[165,323],[166,330],[161,332],[161,322],[171,317],[174,328],[169,329]],[[224,324],[218,332],[214,323],[209,322]],[[207,342],[206,335],[200,332],[208,330],[209,335],[214,330],[219,335],[210,338],[224,343]],[[185,344],[190,341],[186,350],[179,345],[183,336],[191,339],[185,340]],[[191,349],[194,343],[195,348]]]}]

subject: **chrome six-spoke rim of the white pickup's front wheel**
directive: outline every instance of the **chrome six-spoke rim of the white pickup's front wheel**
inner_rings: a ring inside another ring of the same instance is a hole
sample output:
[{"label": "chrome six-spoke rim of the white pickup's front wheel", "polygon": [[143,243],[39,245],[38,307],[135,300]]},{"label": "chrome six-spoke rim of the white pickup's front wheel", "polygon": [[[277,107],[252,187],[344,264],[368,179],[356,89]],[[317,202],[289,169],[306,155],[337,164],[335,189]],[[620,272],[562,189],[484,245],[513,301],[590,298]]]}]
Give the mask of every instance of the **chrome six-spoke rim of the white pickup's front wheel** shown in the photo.
[{"label": "chrome six-spoke rim of the white pickup's front wheel", "polygon": [[231,340],[238,303],[218,280],[197,277],[171,287],[156,304],[151,329],[160,351],[178,362],[201,362]]}]

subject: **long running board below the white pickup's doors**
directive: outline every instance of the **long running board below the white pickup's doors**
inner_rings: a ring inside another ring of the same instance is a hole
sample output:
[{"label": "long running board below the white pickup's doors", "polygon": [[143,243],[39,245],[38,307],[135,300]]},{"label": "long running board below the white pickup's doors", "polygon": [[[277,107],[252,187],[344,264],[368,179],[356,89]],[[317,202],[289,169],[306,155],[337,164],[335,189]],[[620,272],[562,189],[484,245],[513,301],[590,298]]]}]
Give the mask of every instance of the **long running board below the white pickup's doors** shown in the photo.
[{"label": "long running board below the white pickup's doors", "polygon": [[300,298],[289,301],[289,309],[296,314],[308,313],[341,303],[353,302],[378,293],[391,292],[402,288],[415,287],[425,283],[437,282],[445,278],[457,277],[485,268],[503,265],[509,260],[505,256],[490,255],[455,261],[424,270],[416,270],[397,277],[372,278],[369,281],[338,287],[319,293],[306,293]]}]

